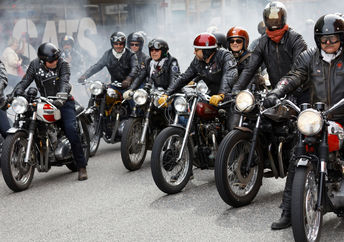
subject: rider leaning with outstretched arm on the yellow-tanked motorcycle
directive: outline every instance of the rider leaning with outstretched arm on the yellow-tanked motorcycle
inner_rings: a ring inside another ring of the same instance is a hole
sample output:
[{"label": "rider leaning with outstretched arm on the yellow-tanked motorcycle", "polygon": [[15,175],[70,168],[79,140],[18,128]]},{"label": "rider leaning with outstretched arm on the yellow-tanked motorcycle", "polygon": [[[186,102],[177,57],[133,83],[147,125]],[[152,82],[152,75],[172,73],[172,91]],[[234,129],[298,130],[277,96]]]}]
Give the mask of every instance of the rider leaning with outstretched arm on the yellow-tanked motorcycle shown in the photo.
[{"label": "rider leaning with outstretched arm on the yellow-tanked motorcycle", "polygon": [[78,80],[83,83],[86,78],[97,73],[105,66],[111,75],[111,82],[121,82],[120,92],[124,92],[138,75],[138,62],[135,53],[125,48],[126,36],[122,32],[114,32],[110,37],[111,49],[91,66]]}]

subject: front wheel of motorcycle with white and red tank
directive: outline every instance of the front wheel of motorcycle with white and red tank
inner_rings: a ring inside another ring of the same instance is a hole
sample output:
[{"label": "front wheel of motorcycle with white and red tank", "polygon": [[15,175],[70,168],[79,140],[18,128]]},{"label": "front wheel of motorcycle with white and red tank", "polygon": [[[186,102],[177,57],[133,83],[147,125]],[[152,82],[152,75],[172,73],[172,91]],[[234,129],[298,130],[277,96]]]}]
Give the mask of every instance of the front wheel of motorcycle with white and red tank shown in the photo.
[{"label": "front wheel of motorcycle with white and red tank", "polygon": [[[26,190],[35,173],[34,165],[23,164],[27,146],[27,134],[17,132],[8,134],[3,143],[1,156],[2,175],[7,186],[14,192]],[[31,164],[36,162],[35,152],[31,152]]]}]

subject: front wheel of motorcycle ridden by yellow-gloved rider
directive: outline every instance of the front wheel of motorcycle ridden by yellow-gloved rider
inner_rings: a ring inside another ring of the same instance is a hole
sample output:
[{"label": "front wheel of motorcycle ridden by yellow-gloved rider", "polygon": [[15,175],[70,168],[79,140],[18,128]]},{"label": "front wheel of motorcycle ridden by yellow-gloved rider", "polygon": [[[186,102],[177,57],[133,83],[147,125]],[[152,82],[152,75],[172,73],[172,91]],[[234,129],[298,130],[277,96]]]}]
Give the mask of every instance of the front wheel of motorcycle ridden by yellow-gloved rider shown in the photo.
[{"label": "front wheel of motorcycle ridden by yellow-gloved rider", "polygon": [[[185,146],[181,161],[176,162],[184,133],[185,130],[181,128],[165,128],[153,144],[151,159],[153,179],[158,188],[167,194],[180,192],[191,176],[193,157],[190,142]],[[169,142],[171,146],[167,149]]]}]

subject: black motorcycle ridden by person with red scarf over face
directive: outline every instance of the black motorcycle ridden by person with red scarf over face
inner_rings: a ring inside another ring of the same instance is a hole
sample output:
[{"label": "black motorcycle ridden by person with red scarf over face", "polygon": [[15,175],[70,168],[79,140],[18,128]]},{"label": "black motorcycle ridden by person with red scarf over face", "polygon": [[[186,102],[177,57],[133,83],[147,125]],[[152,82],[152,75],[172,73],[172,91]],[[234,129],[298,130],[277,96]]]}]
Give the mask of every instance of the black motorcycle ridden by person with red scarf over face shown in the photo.
[{"label": "black motorcycle ridden by person with red scarf over face", "polygon": [[[266,91],[243,90],[235,98],[239,125],[222,140],[215,182],[224,202],[240,207],[257,195],[264,177],[284,178],[295,144],[299,108],[283,99],[265,109]],[[264,170],[268,169],[264,174]]]}]

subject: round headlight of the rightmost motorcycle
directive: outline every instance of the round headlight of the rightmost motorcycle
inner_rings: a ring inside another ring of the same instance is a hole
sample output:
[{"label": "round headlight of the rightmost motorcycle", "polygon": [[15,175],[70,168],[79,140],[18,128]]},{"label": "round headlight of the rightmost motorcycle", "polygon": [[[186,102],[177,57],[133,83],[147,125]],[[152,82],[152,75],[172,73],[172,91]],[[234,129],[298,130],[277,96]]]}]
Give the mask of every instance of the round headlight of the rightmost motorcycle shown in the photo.
[{"label": "round headlight of the rightmost motorcycle", "polygon": [[301,134],[312,136],[319,133],[323,127],[324,120],[315,109],[309,108],[302,111],[297,118],[297,128]]}]

